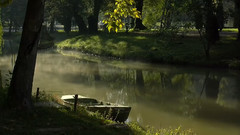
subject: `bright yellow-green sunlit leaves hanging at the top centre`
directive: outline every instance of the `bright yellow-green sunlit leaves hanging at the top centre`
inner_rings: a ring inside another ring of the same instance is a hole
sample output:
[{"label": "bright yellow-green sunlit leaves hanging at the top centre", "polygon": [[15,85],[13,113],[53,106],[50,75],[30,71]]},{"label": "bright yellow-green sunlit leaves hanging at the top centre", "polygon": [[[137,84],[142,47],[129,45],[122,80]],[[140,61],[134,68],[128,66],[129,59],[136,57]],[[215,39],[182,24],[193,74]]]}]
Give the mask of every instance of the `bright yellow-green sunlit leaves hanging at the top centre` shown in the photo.
[{"label": "bright yellow-green sunlit leaves hanging at the top centre", "polygon": [[118,32],[125,23],[122,22],[123,18],[131,16],[133,18],[140,18],[140,12],[137,8],[134,8],[134,0],[116,0],[115,9],[113,12],[106,12],[105,15],[108,16],[103,23],[107,24],[108,31]]}]

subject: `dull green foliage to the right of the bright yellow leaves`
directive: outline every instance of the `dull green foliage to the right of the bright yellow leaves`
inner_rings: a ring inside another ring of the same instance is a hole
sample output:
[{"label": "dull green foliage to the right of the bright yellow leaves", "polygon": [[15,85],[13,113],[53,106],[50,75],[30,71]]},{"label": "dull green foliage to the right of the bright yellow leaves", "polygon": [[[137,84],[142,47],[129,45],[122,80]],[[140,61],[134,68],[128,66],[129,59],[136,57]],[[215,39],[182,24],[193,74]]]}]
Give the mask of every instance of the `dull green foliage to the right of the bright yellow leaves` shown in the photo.
[{"label": "dull green foliage to the right of the bright yellow leaves", "polygon": [[144,3],[144,24],[153,29],[183,27],[190,22],[186,0],[146,0]]}]

